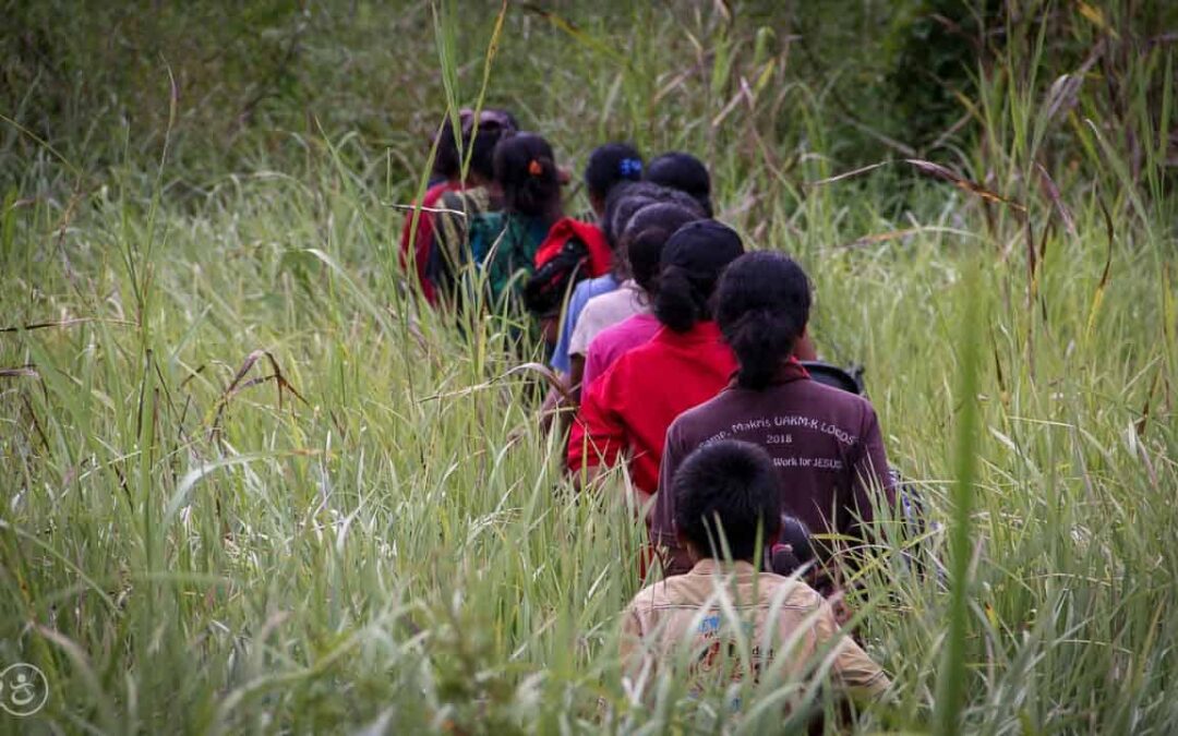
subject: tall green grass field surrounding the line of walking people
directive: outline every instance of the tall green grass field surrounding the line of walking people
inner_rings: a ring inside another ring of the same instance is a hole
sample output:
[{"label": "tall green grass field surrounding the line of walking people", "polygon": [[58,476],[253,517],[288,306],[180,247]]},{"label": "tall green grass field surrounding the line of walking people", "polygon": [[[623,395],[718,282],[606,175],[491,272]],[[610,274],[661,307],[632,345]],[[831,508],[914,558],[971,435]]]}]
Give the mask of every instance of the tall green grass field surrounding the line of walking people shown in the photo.
[{"label": "tall green grass field surrounding the line of walking people", "polygon": [[926,523],[849,594],[893,698],[828,732],[1178,732],[1173,4],[0,9],[5,732],[805,728],[623,681],[624,473],[575,491],[541,349],[398,264],[483,105],[569,212],[596,145],[700,155],[866,367]]}]

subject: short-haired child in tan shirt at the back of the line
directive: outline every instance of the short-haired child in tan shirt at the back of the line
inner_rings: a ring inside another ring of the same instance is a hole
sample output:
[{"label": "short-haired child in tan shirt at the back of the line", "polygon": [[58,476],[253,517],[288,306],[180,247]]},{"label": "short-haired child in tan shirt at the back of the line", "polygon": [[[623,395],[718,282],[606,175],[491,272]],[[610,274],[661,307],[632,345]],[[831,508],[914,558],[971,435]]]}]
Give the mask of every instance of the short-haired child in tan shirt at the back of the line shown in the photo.
[{"label": "short-haired child in tan shirt at the back of the line", "polygon": [[621,654],[631,682],[650,683],[681,657],[694,692],[756,681],[774,664],[806,676],[833,644],[830,681],[839,692],[886,692],[884,670],[840,631],[818,591],[755,566],[761,544],[781,524],[782,493],[765,450],[739,440],[707,445],[683,460],[668,486],[662,492],[675,496],[676,535],[691,568],[646,588],[627,608]]}]

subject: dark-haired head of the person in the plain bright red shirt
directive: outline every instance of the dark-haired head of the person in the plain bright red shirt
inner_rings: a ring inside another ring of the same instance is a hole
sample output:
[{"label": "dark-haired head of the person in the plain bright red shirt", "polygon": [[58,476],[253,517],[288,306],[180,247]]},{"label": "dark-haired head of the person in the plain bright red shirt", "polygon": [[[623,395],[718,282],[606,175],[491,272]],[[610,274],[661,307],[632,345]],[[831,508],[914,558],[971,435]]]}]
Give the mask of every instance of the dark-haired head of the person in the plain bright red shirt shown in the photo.
[{"label": "dark-haired head of the person in the plain bright red shirt", "polygon": [[675,332],[713,318],[720,276],[744,253],[736,231],[715,220],[688,223],[671,234],[659,258],[655,317]]}]

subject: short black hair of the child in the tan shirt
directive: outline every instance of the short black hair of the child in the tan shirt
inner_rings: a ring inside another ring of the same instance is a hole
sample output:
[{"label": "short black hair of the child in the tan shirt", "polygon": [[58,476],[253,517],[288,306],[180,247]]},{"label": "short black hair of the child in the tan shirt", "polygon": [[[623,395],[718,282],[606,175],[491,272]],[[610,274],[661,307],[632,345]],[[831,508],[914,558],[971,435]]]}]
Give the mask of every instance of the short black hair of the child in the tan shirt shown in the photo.
[{"label": "short black hair of the child in the tan shirt", "polygon": [[761,542],[777,537],[781,490],[769,455],[757,445],[722,439],[683,460],[671,480],[675,526],[701,555],[720,557],[722,538],[733,559],[753,561]]}]

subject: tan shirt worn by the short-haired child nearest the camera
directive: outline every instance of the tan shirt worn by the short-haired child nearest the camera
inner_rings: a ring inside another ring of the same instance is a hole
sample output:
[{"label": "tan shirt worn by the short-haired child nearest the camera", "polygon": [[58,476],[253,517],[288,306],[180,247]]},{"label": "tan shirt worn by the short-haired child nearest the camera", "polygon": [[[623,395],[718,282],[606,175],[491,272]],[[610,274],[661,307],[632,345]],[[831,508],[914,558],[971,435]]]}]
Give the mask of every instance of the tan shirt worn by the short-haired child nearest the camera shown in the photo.
[{"label": "tan shirt worn by the short-haired child nearest the camera", "polygon": [[[743,637],[734,635],[734,622]],[[741,638],[748,648],[743,654]],[[825,649],[829,642],[836,644]],[[729,566],[702,559],[690,572],[643,589],[626,611],[621,649],[628,675],[640,682],[686,655],[693,689],[717,676],[755,679],[774,665],[786,676],[803,676],[823,651],[830,657],[830,681],[849,695],[878,697],[891,684],[839,629],[818,591],[796,579],[759,573],[747,562]],[[788,661],[779,664],[782,656]]]}]

